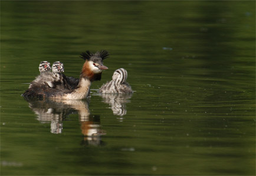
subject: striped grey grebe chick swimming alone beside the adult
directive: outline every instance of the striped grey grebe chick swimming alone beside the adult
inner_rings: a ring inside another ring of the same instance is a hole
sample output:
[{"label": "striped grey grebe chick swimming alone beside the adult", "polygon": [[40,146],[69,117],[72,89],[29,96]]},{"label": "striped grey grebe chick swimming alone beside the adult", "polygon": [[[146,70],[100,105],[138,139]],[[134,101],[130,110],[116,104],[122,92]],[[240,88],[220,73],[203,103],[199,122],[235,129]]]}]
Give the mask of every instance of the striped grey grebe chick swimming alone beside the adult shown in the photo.
[{"label": "striped grey grebe chick swimming alone beside the adult", "polygon": [[99,93],[133,93],[132,87],[126,82],[126,79],[126,69],[117,69],[114,71],[112,80],[100,87]]}]

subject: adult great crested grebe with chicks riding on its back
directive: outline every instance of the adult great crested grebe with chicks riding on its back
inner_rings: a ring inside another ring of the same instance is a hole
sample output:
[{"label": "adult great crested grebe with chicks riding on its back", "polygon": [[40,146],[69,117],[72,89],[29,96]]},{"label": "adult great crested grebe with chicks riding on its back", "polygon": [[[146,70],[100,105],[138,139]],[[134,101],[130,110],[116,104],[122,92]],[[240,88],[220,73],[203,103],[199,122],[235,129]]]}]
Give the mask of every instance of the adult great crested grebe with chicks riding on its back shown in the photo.
[{"label": "adult great crested grebe with chicks riding on its back", "polygon": [[[84,99],[88,95],[91,82],[100,80],[102,71],[108,69],[103,65],[103,60],[108,56],[109,52],[106,50],[101,50],[95,54],[89,51],[81,53],[80,57],[86,60],[86,62],[84,62],[77,86],[71,90],[68,89],[68,86],[58,86],[62,83],[56,81],[55,78],[52,77],[52,73],[43,72],[31,82],[29,89],[26,90],[22,96],[26,99]],[[63,77],[62,81],[68,83],[67,78],[65,77]],[[52,87],[49,85],[49,82]]]}]

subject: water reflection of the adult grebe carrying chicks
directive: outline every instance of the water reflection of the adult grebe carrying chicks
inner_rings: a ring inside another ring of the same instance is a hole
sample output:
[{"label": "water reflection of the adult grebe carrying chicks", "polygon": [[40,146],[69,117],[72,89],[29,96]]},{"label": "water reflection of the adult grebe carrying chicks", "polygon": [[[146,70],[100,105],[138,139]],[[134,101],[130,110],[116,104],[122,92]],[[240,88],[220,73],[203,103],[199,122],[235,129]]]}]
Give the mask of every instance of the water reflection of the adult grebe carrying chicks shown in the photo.
[{"label": "water reflection of the adult grebe carrying chicks", "polygon": [[63,131],[63,121],[68,115],[78,113],[83,145],[101,145],[101,135],[106,134],[101,130],[100,116],[93,116],[88,109],[88,101],[83,100],[34,100],[28,104],[37,114],[41,123],[51,122],[51,133],[60,134]]}]

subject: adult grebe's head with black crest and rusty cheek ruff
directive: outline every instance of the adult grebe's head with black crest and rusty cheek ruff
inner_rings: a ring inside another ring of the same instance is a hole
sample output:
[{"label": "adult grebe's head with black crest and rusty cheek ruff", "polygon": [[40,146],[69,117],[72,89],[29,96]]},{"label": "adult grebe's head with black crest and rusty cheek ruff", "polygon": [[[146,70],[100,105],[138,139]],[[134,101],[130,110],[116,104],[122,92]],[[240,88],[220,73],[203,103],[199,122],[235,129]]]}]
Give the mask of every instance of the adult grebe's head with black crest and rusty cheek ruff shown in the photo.
[{"label": "adult grebe's head with black crest and rusty cheek ruff", "polygon": [[103,60],[109,56],[109,52],[106,50],[101,50],[100,52],[96,52],[95,54],[89,52],[81,53],[80,57],[86,62],[84,63],[81,74],[83,77],[88,77],[91,81],[100,80],[101,73],[103,70],[107,70],[108,67],[103,65]]}]

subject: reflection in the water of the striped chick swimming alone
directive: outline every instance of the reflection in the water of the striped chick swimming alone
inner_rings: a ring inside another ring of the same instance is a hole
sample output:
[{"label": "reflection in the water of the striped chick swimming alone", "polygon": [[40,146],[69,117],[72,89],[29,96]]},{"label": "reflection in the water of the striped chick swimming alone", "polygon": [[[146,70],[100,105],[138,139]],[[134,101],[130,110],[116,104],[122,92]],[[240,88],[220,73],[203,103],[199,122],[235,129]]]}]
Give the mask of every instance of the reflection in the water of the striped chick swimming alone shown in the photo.
[{"label": "reflection in the water of the striped chick swimming alone", "polygon": [[120,116],[118,119],[123,121],[126,115],[126,103],[130,102],[132,94],[101,94],[102,102],[110,105],[114,115]]}]

